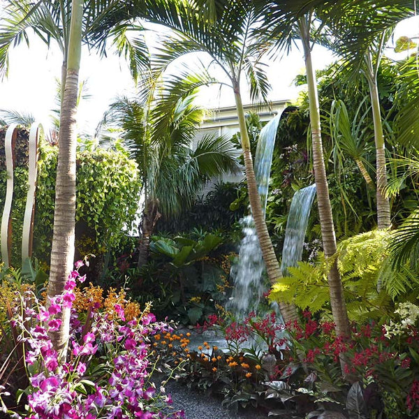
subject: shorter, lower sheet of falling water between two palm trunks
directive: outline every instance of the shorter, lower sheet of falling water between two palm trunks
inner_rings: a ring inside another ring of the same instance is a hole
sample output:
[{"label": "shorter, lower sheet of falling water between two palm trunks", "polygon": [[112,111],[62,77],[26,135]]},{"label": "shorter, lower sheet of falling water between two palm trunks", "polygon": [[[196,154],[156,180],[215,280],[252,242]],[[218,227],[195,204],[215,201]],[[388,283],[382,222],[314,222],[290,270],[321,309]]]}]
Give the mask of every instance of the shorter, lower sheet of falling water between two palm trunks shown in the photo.
[{"label": "shorter, lower sheet of falling water between two palm trunks", "polygon": [[282,248],[281,271],[283,275],[287,274],[287,267],[297,265],[297,262],[302,258],[304,236],[315,194],[316,185],[313,184],[295,192],[291,201],[286,221],[284,247]]}]

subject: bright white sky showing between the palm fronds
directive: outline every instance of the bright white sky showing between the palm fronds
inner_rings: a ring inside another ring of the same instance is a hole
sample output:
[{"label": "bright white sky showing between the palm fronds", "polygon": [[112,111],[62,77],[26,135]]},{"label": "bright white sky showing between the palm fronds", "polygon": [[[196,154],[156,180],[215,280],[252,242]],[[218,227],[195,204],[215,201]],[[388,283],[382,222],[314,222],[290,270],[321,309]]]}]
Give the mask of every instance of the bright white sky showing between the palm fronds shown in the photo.
[{"label": "bright white sky showing between the palm fronds", "polygon": [[[402,22],[397,27],[395,38],[399,36],[414,36],[419,33],[419,19],[416,17]],[[389,54],[397,58],[400,54]],[[332,54],[323,47],[315,47],[313,52],[316,69],[324,68],[333,61]],[[195,60],[189,56],[188,60]],[[0,109],[31,112],[36,119],[50,126],[51,110],[57,108],[55,96],[56,79],[61,77],[61,52],[53,45],[47,50],[36,37],[31,37],[30,47],[19,45],[10,51],[9,75],[0,82]],[[281,61],[269,61],[267,75],[272,84],[269,99],[293,100],[298,89],[293,86],[296,75],[303,73],[304,60],[302,52],[296,47],[291,54]],[[87,48],[82,50],[82,65],[80,80],[87,80],[88,94],[91,96],[82,101],[78,110],[78,126],[80,131],[94,133],[94,128],[101,120],[103,112],[108,109],[117,95],[132,94],[134,85],[128,71],[128,65],[115,54],[100,59]],[[198,101],[207,108],[220,108],[233,105],[234,97],[230,89],[204,89]],[[244,103],[249,103],[244,98]]]}]

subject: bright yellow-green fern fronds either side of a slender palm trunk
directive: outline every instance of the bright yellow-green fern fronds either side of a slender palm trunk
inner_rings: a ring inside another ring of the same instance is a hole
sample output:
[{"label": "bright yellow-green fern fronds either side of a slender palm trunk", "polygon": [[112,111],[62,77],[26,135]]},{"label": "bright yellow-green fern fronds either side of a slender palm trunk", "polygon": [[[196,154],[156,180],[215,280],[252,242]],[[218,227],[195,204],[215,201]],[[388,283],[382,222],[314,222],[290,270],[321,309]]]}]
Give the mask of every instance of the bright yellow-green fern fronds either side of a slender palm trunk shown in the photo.
[{"label": "bright yellow-green fern fronds either side of a slender palm trunk", "polygon": [[[388,266],[389,232],[373,230],[343,240],[336,256],[348,316],[356,321],[392,316],[394,302],[412,292],[413,273],[409,270],[392,272]],[[289,276],[272,286],[270,300],[290,302],[300,309],[309,309],[322,316],[330,315],[330,295],[327,281],[330,260],[323,254],[316,263],[301,262],[289,267]],[[384,267],[387,267],[385,269]],[[413,294],[414,295],[414,294]],[[402,300],[403,300],[402,298]]]}]

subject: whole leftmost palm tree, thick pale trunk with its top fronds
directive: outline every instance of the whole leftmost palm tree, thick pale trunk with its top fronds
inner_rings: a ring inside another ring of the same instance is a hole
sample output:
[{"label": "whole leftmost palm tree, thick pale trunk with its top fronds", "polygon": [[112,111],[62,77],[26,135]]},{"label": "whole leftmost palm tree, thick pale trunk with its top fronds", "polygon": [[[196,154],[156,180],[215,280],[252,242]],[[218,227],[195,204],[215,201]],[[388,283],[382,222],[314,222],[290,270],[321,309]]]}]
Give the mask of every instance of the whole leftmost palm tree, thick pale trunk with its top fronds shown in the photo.
[{"label": "whole leftmost palm tree, thick pale trunk with its top fronds", "polygon": [[[7,0],[4,2],[3,19],[0,24],[0,75],[8,71],[10,48],[22,41],[29,43],[28,32],[32,29],[47,46],[52,40],[57,42],[63,54],[61,67],[61,112],[59,128],[59,156],[57,165],[56,198],[54,207],[54,231],[50,264],[50,280],[47,295],[54,297],[64,291],[64,285],[74,262],[75,230],[75,147],[76,126],[75,112],[78,99],[78,71],[82,40],[87,40],[89,28],[103,13],[115,8],[120,9],[120,2],[105,0],[41,0],[33,3],[29,0]],[[123,20],[123,18],[125,20]],[[133,75],[138,66],[147,62],[143,55],[145,43],[142,38],[135,38],[135,46],[126,35],[126,28],[132,27],[126,15],[120,16],[117,29],[112,35],[119,54],[130,57]],[[52,342],[59,353],[65,353],[69,311],[61,311],[61,327],[52,333]]]}]

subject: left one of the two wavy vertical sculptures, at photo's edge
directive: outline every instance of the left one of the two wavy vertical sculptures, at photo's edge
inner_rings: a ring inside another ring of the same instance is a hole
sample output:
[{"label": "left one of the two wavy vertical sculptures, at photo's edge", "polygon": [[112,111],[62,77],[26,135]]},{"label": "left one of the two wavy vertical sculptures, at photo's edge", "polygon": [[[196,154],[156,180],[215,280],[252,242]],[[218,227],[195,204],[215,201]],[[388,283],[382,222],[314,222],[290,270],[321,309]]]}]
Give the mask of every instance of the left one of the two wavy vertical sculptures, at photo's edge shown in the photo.
[{"label": "left one of the two wavy vertical sculptures, at photo's edge", "polygon": [[6,267],[10,263],[10,254],[12,248],[12,220],[10,212],[12,210],[13,201],[13,170],[15,168],[15,140],[16,126],[11,124],[6,131],[4,139],[4,151],[6,153],[6,200],[3,208],[3,216],[1,217],[1,259]]}]

